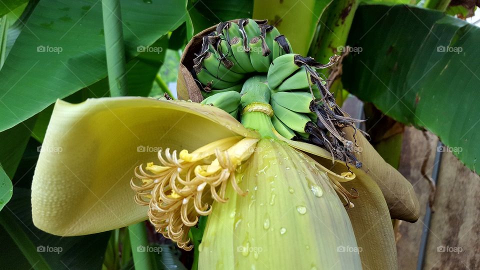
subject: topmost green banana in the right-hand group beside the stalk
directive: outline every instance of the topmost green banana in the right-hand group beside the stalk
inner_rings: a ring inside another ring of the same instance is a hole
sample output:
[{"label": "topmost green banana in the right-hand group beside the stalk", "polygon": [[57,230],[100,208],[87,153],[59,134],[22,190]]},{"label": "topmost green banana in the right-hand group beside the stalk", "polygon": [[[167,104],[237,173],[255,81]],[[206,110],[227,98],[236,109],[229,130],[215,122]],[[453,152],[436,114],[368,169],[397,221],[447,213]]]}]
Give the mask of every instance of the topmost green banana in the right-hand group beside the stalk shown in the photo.
[{"label": "topmost green banana in the right-hand group beside the stalk", "polygon": [[270,89],[274,90],[285,78],[300,68],[294,62],[295,55],[294,53],[283,54],[271,62],[267,73]]}]

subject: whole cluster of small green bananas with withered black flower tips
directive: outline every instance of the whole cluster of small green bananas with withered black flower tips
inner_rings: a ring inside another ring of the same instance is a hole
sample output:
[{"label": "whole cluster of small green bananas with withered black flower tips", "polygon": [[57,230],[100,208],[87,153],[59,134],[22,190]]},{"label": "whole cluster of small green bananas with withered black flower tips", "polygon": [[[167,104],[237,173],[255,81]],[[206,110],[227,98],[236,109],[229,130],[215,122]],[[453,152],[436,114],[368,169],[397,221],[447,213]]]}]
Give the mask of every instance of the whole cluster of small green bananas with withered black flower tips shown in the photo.
[{"label": "whole cluster of small green bananas with withered black flower tips", "polygon": [[[266,20],[240,19],[219,23],[203,36],[192,74],[202,89],[202,103],[235,118],[246,105],[242,99],[248,89],[267,91],[267,103],[274,112],[271,122],[280,135],[323,147],[333,158],[359,168],[361,162],[352,153],[355,143],[345,138],[342,128],[361,120],[347,116],[336,105],[326,79],[316,71],[337,59],[334,55],[327,64],[320,64],[294,54],[288,39]],[[258,73],[266,76],[255,76]]]}]

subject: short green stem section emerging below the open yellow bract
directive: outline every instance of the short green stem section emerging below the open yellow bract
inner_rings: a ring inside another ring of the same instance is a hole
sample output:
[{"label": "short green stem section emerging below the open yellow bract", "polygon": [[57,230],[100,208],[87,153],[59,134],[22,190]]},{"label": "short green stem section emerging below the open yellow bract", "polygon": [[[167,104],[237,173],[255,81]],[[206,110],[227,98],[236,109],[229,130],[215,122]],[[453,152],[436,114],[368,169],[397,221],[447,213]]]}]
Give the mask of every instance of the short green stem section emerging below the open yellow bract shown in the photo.
[{"label": "short green stem section emerging below the open yellow bract", "polygon": [[137,270],[156,269],[155,262],[150,252],[147,252],[148,239],[144,222],[139,222],[128,226],[130,236],[130,246]]}]

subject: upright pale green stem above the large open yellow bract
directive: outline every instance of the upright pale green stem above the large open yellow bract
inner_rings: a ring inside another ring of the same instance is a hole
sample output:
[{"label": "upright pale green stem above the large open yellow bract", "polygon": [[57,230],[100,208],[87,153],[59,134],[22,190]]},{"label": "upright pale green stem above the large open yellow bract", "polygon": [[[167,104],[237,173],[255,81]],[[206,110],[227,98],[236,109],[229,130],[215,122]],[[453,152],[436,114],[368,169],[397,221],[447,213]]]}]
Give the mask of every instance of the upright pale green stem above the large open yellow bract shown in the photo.
[{"label": "upright pale green stem above the large open yellow bract", "polygon": [[123,96],[126,95],[127,88],[120,1],[102,0],[101,4],[110,95]]}]

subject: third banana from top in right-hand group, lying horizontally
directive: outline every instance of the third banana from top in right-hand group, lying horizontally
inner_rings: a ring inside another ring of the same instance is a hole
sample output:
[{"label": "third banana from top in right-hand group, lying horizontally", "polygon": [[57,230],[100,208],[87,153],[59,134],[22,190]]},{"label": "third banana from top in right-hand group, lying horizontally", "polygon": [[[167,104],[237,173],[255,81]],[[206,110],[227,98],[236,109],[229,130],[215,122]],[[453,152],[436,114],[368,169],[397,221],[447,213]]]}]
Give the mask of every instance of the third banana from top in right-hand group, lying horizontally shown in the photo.
[{"label": "third banana from top in right-hand group, lying horizontally", "polygon": [[289,110],[310,113],[310,102],[313,100],[309,92],[274,92],[271,99]]}]

